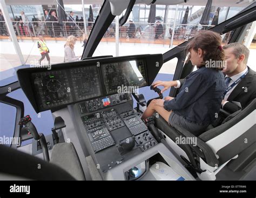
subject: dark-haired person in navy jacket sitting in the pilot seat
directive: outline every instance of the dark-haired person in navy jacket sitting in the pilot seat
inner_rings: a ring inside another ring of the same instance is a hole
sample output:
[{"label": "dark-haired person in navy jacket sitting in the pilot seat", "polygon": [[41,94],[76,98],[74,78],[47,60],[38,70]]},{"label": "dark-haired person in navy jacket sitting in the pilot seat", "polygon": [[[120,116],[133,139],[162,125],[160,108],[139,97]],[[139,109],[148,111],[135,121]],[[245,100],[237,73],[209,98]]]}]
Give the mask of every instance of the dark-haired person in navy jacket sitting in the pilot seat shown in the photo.
[{"label": "dark-haired person in navy jacket sitting in the pilot seat", "polygon": [[[190,52],[188,60],[191,60],[192,65],[196,65],[198,70],[185,78],[176,98],[152,100],[142,119],[157,111],[170,125],[180,125],[194,135],[199,135],[218,117],[226,89],[224,75],[221,72],[224,65],[209,65],[216,61],[224,63],[221,37],[212,31],[200,32],[188,43],[186,52]],[[171,86],[176,86],[177,83],[174,82],[157,81],[153,85],[164,86],[165,91]]]}]

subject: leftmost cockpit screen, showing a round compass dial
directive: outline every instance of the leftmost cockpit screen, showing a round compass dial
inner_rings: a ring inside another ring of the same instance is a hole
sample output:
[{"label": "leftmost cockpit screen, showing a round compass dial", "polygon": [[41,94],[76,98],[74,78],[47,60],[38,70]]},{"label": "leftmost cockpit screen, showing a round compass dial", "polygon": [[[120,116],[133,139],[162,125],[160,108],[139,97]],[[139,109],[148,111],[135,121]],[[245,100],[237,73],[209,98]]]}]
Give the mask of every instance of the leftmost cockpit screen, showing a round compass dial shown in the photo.
[{"label": "leftmost cockpit screen, showing a round compass dial", "polygon": [[72,103],[66,70],[32,73],[32,81],[40,109]]}]

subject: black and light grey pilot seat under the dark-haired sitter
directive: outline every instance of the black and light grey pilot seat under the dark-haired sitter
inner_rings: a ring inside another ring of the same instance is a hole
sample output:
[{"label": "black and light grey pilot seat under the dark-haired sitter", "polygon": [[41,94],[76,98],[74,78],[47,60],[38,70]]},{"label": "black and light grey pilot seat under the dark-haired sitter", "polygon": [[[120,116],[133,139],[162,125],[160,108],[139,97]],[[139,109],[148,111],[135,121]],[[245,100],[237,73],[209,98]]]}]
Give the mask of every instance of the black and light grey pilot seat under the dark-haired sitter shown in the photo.
[{"label": "black and light grey pilot seat under the dark-haired sitter", "polygon": [[[230,114],[220,126],[194,136],[154,114],[155,126],[200,180],[255,180],[255,118],[256,99],[243,110]],[[197,145],[176,144],[181,137],[194,138]]]}]

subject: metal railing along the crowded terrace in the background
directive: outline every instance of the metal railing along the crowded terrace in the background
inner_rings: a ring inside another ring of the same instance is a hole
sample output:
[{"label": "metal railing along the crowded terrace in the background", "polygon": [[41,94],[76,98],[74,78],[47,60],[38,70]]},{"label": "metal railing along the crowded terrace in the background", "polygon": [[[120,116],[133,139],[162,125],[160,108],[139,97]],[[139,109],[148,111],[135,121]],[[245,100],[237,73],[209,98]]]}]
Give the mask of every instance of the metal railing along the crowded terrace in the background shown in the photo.
[{"label": "metal railing along the crowded terrace in the background", "polygon": [[[178,40],[183,42],[188,40],[197,32],[201,30],[207,30],[213,25],[191,25],[191,24],[161,24],[163,28],[158,29],[157,23],[133,23],[134,26],[131,28],[129,23],[119,26],[119,38],[120,42],[136,42],[134,39],[143,40],[144,43],[152,43],[152,40],[158,41],[157,43],[166,44],[166,42],[171,42],[173,40]],[[84,29],[84,22],[50,22],[50,21],[37,21],[28,22],[24,24],[22,21],[12,22],[14,30],[18,39],[34,39],[39,35],[48,37],[46,39],[57,40],[58,38],[65,39],[70,35],[74,35],[82,39],[83,34],[86,32],[90,35],[92,30],[93,22],[86,22],[86,31]],[[172,35],[174,28],[174,34]],[[9,36],[8,29],[6,28],[5,22],[0,21],[0,36]],[[111,41],[108,38],[116,38],[116,23],[111,23],[109,28],[104,34],[107,41]],[[123,39],[125,38],[125,39]],[[80,40],[81,40],[80,39]],[[112,39],[114,42],[114,39]]]}]

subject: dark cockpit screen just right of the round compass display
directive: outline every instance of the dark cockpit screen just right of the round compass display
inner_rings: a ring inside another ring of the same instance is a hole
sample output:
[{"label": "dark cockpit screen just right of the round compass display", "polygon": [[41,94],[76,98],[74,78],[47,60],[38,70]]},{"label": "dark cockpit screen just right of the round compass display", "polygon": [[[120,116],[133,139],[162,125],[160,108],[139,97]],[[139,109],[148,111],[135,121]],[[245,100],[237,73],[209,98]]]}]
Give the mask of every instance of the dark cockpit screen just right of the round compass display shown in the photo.
[{"label": "dark cockpit screen just right of the round compass display", "polygon": [[72,69],[71,78],[77,101],[98,97],[101,94],[97,66]]}]

